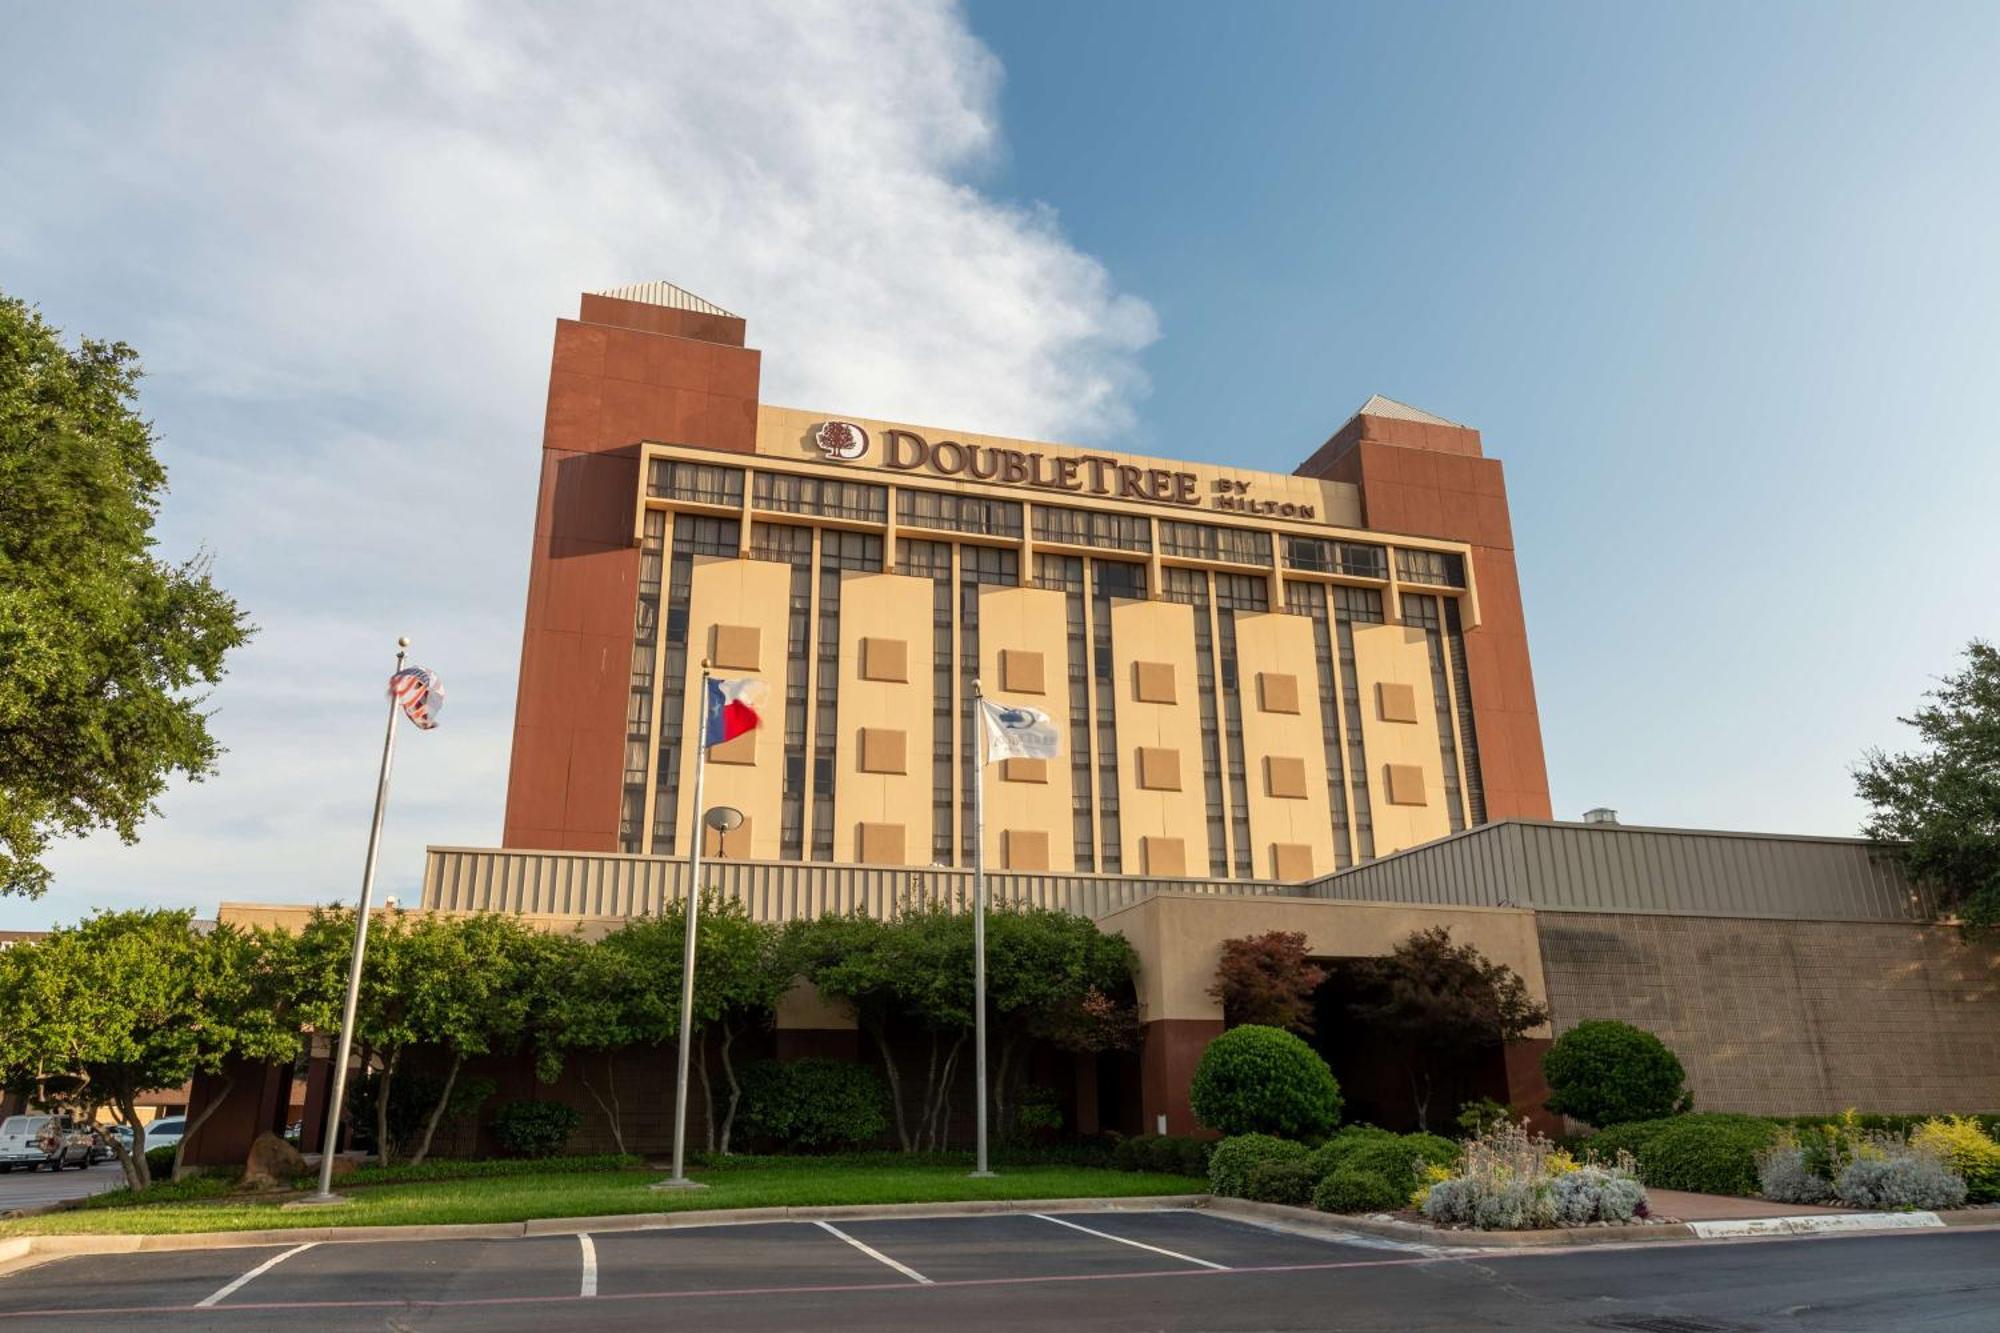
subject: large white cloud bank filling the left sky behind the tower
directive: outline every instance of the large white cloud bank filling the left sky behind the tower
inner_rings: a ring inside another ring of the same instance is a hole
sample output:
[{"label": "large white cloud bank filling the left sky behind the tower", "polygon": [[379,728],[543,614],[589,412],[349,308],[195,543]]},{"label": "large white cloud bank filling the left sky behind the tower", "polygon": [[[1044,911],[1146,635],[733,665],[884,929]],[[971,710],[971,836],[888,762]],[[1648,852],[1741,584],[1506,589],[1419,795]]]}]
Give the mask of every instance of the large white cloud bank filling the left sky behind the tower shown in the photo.
[{"label": "large white cloud bank filling the left sky behind the tower", "polygon": [[[948,4],[312,6],[28,18],[0,110],[8,290],[146,354],[168,546],[264,626],[232,753],[40,905],[352,895],[388,642],[444,673],[384,873],[490,843],[552,320],[670,278],[764,398],[1106,438],[1150,308],[980,190],[1002,72]],[[40,24],[40,26],[36,26]]]}]

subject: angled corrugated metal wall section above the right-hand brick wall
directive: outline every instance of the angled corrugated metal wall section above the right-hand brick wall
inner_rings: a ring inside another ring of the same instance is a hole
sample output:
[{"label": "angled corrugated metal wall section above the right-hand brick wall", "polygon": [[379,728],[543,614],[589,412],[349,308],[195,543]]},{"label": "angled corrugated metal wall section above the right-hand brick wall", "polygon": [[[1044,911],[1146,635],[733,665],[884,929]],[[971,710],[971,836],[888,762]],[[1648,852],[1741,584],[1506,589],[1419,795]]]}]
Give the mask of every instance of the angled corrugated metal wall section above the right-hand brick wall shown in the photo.
[{"label": "angled corrugated metal wall section above the right-hand brick wall", "polygon": [[1320,899],[1540,911],[1928,921],[1902,869],[1854,839],[1504,821],[1308,885]]}]

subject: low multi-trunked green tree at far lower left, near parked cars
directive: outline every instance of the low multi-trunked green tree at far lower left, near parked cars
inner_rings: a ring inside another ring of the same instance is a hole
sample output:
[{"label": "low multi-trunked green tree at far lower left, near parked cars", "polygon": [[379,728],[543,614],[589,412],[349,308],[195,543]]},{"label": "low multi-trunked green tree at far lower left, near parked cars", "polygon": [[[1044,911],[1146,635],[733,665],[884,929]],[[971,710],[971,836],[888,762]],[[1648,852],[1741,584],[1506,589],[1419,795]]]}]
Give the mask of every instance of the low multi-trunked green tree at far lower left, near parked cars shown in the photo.
[{"label": "low multi-trunked green tree at far lower left, near parked cars", "polygon": [[[266,933],[190,929],[190,913],[100,913],[0,953],[0,1081],[42,1101],[108,1105],[132,1129],[116,1145],[132,1189],[152,1183],[140,1093],[220,1073],[232,1057],[290,1063],[298,1027],[282,951]],[[194,1139],[218,1095],[188,1125]],[[180,1169],[180,1153],[174,1155]]]}]

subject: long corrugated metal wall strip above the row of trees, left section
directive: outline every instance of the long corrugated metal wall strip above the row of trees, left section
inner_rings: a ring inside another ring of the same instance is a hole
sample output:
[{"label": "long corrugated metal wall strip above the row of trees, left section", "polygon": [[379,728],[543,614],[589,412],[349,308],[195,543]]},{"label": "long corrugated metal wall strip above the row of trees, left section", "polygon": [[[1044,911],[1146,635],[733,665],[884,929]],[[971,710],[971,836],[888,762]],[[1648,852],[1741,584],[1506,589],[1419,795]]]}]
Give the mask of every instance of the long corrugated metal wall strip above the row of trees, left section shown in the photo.
[{"label": "long corrugated metal wall strip above the row of trees, left section", "polygon": [[[424,865],[424,907],[434,911],[642,917],[680,899],[688,863],[612,853],[538,853],[432,847]],[[706,861],[702,879],[738,899],[758,921],[790,921],[866,909],[884,917],[902,903],[970,901],[970,871],[798,865],[790,861]],[[994,903],[1054,907],[1102,917],[1154,893],[1300,897],[1300,885],[1142,879],[1120,875],[988,873]]]}]

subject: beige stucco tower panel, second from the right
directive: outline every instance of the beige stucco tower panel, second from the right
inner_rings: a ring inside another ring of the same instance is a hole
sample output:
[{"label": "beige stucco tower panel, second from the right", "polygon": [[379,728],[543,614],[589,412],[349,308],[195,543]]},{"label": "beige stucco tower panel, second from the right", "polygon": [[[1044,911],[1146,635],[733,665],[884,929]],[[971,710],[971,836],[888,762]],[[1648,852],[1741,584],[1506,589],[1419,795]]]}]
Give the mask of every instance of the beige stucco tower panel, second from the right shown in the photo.
[{"label": "beige stucco tower panel, second from the right", "polygon": [[[1312,620],[1276,612],[1238,612],[1236,662],[1256,875],[1276,877],[1274,843],[1310,847],[1312,875],[1326,875],[1334,869],[1334,825],[1326,805],[1326,743],[1320,731],[1320,677],[1314,664]],[[1264,713],[1256,683],[1260,671],[1298,681],[1298,713]],[[1264,759],[1272,755],[1304,763],[1304,799],[1268,793]]]}]

